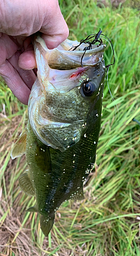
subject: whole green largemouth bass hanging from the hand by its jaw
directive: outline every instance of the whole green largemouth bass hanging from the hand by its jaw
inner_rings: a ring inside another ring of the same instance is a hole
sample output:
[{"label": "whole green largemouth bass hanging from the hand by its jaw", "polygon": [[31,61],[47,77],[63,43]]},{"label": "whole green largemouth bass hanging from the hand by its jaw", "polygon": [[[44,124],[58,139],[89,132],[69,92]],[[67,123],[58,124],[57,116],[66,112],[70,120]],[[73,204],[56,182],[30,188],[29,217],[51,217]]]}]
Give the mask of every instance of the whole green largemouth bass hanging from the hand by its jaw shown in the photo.
[{"label": "whole green largemouth bass hanging from the hand by its jaw", "polygon": [[26,155],[28,169],[19,177],[19,186],[35,197],[36,204],[28,211],[40,214],[45,236],[64,201],[84,199],[83,182],[96,160],[106,45],[85,51],[88,44],[78,44],[66,39],[49,50],[35,34],[37,78],[28,103],[28,124],[11,151],[12,159]]}]

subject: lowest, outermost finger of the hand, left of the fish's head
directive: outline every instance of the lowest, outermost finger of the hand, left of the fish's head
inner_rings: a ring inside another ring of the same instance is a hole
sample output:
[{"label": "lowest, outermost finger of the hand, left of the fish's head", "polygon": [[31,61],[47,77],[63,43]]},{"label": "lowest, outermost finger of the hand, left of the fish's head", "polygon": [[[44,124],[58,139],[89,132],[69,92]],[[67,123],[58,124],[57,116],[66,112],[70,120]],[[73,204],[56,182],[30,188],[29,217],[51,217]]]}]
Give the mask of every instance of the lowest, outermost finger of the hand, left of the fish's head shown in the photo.
[{"label": "lowest, outermost finger of the hand, left of the fish's head", "polygon": [[22,103],[27,105],[31,91],[8,60],[6,60],[5,64],[0,68],[0,75],[4,78],[12,93]]}]

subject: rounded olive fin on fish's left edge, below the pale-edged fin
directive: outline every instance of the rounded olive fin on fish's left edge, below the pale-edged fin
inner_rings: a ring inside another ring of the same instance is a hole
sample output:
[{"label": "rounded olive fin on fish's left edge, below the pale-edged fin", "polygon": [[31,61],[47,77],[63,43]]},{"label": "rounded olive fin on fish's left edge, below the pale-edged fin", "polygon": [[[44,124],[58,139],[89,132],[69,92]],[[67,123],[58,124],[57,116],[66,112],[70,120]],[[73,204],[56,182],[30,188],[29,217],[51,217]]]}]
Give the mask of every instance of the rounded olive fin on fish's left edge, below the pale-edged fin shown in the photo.
[{"label": "rounded olive fin on fish's left edge, below the pale-edged fin", "polygon": [[25,173],[21,174],[19,177],[19,186],[20,188],[28,195],[35,196],[35,190],[29,178],[29,170],[26,170]]}]

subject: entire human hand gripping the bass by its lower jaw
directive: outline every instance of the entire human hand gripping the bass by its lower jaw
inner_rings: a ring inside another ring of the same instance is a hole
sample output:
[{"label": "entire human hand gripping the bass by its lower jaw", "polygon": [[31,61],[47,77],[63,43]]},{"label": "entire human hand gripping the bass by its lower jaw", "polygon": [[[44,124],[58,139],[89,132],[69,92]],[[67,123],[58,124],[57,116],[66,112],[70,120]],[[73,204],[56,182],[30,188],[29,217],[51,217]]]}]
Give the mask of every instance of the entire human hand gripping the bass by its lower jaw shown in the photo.
[{"label": "entire human hand gripping the bass by its lower jaw", "polygon": [[46,46],[56,48],[68,36],[57,0],[1,0],[0,75],[13,94],[28,104],[36,79],[31,35],[42,32]]}]

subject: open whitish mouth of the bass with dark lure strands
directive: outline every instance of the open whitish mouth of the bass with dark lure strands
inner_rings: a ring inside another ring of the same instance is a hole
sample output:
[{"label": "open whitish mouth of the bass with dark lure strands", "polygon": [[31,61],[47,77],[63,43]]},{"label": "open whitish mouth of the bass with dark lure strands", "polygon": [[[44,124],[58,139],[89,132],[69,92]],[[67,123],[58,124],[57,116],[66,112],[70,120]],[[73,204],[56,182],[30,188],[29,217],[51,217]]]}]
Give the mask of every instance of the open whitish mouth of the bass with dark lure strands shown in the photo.
[{"label": "open whitish mouth of the bass with dark lure strands", "polygon": [[83,54],[83,67],[97,65],[97,63],[103,59],[103,52],[106,48],[105,44],[101,44],[100,46],[93,45],[92,49],[83,51],[83,49],[88,46],[88,44],[83,43],[73,51],[71,48],[78,44],[78,41],[66,39],[57,48],[49,50],[39,34],[36,35],[33,42],[35,51],[39,45],[41,46],[43,58],[46,59],[51,69],[69,70],[81,67],[81,58]]}]

